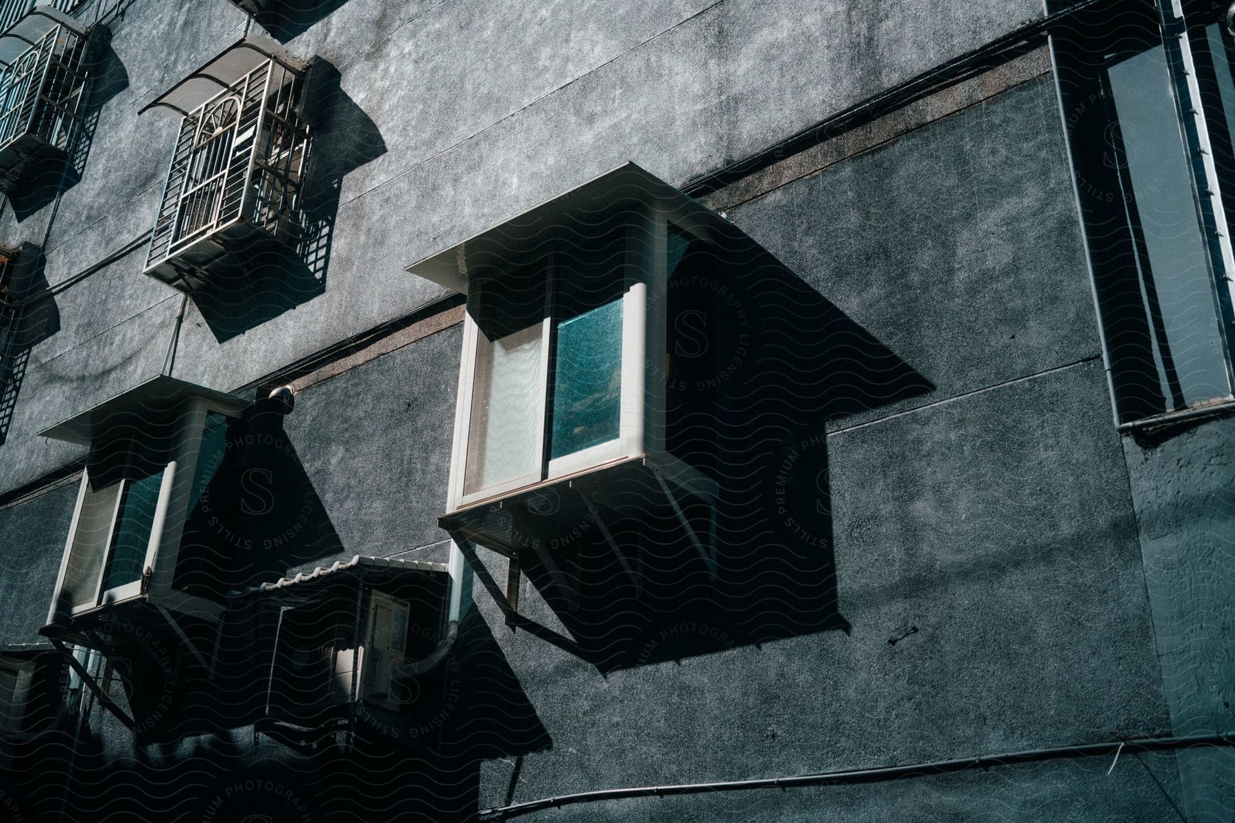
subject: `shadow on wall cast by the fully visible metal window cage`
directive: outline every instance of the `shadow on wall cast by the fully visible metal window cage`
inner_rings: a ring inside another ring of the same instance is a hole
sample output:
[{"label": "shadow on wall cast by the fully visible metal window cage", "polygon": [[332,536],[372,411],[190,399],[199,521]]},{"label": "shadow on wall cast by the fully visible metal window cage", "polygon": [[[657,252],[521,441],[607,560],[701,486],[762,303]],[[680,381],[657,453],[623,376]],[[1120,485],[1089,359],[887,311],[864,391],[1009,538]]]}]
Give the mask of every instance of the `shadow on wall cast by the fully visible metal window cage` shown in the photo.
[{"label": "shadow on wall cast by the fully visible metal window cage", "polygon": [[335,217],[343,176],[385,154],[377,125],[340,86],[338,69],[317,59],[309,69],[303,110],[312,131],[301,207],[304,230],[294,247],[254,237],[238,246],[230,271],[194,294],[194,304],[220,343],[274,320],[326,290]]}]

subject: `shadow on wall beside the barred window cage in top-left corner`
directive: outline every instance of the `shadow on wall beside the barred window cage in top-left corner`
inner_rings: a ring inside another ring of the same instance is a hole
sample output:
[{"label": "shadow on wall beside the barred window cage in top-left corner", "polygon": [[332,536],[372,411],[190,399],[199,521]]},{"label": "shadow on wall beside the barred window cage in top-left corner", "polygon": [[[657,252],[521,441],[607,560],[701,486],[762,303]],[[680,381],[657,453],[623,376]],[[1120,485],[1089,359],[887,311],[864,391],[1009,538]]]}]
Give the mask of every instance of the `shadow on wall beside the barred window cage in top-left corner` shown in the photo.
[{"label": "shadow on wall beside the barred window cage in top-left corner", "polygon": [[99,127],[99,115],[103,106],[117,94],[128,88],[128,73],[120,57],[111,48],[110,35],[99,35],[100,42],[93,47],[88,58],[86,72],[93,78],[88,89],[82,112],[77,122],[77,132],[70,138],[68,154],[63,160],[48,163],[21,186],[9,195],[14,215],[21,222],[48,206],[58,196],[75,186],[85,173],[90,147]]}]

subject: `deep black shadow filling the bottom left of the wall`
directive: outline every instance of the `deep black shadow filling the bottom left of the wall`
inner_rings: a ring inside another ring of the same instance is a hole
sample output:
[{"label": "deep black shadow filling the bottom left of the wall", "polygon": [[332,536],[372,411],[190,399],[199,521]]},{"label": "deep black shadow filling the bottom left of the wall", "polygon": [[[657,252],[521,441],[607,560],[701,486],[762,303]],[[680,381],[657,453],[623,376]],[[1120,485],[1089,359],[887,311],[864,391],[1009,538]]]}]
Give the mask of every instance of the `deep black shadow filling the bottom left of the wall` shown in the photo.
[{"label": "deep black shadow filling the bottom left of the wall", "polygon": [[[237,611],[232,617],[220,633],[217,674],[206,677],[198,671],[182,680],[179,690],[200,695],[267,675],[269,658],[261,660],[264,666],[256,663],[263,656],[259,651],[269,650],[270,626],[246,619],[253,612]],[[222,730],[252,722],[251,698],[245,701],[248,718],[231,724],[215,716],[211,729],[179,714],[180,701],[164,716],[158,707],[167,701],[137,696],[132,700],[154,711],[135,706],[135,717],[149,717],[149,723],[177,734],[135,738],[105,713],[80,724],[73,714],[63,729],[49,730],[15,753],[6,774],[21,776],[22,791],[9,797],[20,798],[26,819],[43,819],[28,813],[33,809],[59,819],[62,803],[65,819],[83,821],[147,819],[154,808],[159,819],[380,821],[390,819],[390,809],[400,809],[399,819],[473,819],[483,760],[519,758],[552,743],[475,610],[464,617],[456,649],[416,684],[420,705],[410,743],[394,740],[380,722],[362,719],[354,726],[354,740],[331,734],[319,738],[311,751],[298,751],[267,735]],[[112,680],[121,679],[127,681],[127,674]],[[112,696],[126,700],[117,687]],[[99,712],[96,703],[83,705]],[[196,737],[175,743],[185,732]],[[243,743],[237,745],[237,739]],[[2,776],[0,788],[9,788]]]}]

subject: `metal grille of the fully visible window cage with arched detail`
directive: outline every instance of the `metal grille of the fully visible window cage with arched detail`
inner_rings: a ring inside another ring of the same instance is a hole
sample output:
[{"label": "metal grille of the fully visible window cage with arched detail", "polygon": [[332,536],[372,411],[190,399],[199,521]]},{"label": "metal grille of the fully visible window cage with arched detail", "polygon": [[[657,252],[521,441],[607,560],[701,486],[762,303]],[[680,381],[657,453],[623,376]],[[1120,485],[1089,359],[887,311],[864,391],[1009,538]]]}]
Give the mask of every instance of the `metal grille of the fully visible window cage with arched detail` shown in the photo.
[{"label": "metal grille of the fully visible window cage with arched detail", "polygon": [[241,223],[288,242],[300,236],[301,85],[299,73],[266,60],[184,116],[147,271]]}]

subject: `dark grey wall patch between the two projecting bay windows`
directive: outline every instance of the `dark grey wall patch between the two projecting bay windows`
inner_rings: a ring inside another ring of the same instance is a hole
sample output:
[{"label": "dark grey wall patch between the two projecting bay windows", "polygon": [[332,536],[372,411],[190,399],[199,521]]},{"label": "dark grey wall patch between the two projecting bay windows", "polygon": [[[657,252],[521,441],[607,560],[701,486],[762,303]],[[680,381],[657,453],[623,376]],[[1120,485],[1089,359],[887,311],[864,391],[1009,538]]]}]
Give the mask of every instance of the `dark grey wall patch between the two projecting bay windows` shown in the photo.
[{"label": "dark grey wall patch between the two projecting bay windows", "polygon": [[[283,423],[284,457],[294,457],[284,460],[287,476],[272,476],[279,523],[267,529],[295,547],[284,570],[447,539],[437,515],[446,508],[461,345],[462,327],[453,326],[298,396]],[[301,518],[306,506],[314,515]],[[437,555],[445,558],[442,547]]]}]

